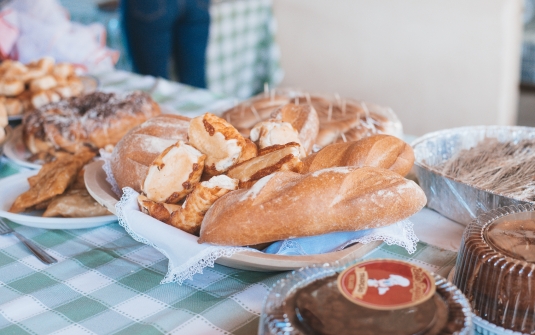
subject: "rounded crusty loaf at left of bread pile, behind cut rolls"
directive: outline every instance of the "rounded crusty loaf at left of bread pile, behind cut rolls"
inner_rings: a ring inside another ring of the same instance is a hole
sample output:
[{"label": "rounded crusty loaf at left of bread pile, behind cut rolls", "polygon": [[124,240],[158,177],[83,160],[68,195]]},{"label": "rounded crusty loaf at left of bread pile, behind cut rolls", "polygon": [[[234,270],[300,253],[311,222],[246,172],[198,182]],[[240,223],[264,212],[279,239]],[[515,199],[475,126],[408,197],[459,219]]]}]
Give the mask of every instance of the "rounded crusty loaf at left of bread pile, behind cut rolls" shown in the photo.
[{"label": "rounded crusty loaf at left of bread pile, behind cut rolls", "polygon": [[113,149],[111,167],[119,188],[141,192],[151,163],[166,148],[187,141],[190,119],[163,114],[131,129]]}]

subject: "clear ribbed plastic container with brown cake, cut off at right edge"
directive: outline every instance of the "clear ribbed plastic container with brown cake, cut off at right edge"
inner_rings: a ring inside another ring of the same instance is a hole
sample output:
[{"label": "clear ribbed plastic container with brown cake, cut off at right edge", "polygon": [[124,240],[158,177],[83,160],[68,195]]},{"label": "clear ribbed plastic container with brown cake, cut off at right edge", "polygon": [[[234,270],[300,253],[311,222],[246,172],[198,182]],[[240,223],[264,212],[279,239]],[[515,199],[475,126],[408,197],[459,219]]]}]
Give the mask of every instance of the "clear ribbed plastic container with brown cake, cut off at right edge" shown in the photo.
[{"label": "clear ribbed plastic container with brown cake, cut off at right edge", "polygon": [[453,282],[474,314],[535,334],[535,206],[499,208],[465,230]]}]

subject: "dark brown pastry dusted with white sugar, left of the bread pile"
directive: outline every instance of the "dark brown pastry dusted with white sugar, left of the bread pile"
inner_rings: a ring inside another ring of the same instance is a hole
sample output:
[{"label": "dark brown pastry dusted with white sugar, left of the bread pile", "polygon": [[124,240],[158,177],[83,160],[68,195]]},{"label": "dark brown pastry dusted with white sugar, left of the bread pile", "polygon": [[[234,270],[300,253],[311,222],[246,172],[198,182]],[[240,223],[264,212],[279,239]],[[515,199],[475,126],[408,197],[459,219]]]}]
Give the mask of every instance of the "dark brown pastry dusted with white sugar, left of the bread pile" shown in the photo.
[{"label": "dark brown pastry dusted with white sugar, left of the bread pile", "polygon": [[124,97],[95,92],[45,105],[23,118],[23,139],[32,153],[50,148],[76,152],[83,146],[115,145],[131,128],[160,114],[146,93]]}]

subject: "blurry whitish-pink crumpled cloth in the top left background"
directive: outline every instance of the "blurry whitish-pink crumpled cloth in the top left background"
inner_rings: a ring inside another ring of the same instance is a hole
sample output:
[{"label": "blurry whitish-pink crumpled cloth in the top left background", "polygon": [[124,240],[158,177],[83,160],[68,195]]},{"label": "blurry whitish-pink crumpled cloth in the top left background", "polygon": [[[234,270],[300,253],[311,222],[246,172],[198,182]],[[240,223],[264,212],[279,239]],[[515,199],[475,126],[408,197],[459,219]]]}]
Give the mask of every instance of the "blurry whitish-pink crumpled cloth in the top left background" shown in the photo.
[{"label": "blurry whitish-pink crumpled cloth in the top left background", "polygon": [[[4,33],[5,32],[5,33]],[[106,47],[100,24],[69,21],[57,0],[14,0],[0,12],[2,57],[29,63],[44,56],[90,71],[112,69],[119,53]]]}]

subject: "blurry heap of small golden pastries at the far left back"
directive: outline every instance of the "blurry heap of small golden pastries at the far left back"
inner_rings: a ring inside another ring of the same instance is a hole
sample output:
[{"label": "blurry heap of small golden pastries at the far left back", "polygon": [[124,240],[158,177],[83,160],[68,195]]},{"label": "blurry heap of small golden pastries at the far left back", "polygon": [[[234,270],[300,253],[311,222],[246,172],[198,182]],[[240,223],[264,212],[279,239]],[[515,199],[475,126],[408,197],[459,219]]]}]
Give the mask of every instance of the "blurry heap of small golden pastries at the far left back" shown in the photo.
[{"label": "blurry heap of small golden pastries at the far left back", "polygon": [[81,79],[68,63],[45,57],[29,64],[5,60],[0,64],[0,114],[19,115],[51,102],[82,94]]}]

